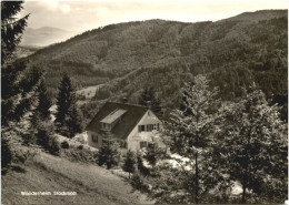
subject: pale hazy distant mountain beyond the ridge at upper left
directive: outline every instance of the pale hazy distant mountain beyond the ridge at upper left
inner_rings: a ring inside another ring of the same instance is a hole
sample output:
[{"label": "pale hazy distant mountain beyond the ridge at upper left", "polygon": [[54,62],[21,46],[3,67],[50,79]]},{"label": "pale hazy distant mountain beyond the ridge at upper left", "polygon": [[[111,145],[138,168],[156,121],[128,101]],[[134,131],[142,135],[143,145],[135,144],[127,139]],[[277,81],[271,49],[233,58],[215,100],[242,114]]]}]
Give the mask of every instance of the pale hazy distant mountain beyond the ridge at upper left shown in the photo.
[{"label": "pale hazy distant mountain beyond the ridge at upper left", "polygon": [[27,28],[22,35],[21,45],[23,47],[47,47],[58,43],[76,35],[76,31],[67,31],[59,28],[42,27],[39,29]]}]

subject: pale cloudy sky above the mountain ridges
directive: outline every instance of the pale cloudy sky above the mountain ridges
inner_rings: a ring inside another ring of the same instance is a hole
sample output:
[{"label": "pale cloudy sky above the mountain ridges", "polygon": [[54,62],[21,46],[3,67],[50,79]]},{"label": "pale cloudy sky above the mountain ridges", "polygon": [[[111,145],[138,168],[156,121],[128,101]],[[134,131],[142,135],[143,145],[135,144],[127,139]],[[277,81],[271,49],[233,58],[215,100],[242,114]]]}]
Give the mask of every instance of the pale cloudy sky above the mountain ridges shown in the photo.
[{"label": "pale cloudy sky above the mountain ridges", "polygon": [[287,0],[93,0],[26,1],[21,16],[28,27],[86,31],[98,27],[148,19],[186,22],[219,20],[245,11],[287,9]]}]

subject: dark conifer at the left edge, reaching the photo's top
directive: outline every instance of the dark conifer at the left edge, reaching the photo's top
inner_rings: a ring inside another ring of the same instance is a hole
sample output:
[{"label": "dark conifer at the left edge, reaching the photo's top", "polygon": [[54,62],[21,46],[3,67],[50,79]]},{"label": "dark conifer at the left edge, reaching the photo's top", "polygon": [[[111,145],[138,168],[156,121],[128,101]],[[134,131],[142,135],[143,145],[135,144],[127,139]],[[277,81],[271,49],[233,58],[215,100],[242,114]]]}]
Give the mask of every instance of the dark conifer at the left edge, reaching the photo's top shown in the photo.
[{"label": "dark conifer at the left edge, reaching the photo's top", "polygon": [[29,16],[17,19],[22,1],[1,2],[1,123],[20,121],[33,104],[33,93],[42,72],[27,68],[27,61],[14,60],[13,53]]}]

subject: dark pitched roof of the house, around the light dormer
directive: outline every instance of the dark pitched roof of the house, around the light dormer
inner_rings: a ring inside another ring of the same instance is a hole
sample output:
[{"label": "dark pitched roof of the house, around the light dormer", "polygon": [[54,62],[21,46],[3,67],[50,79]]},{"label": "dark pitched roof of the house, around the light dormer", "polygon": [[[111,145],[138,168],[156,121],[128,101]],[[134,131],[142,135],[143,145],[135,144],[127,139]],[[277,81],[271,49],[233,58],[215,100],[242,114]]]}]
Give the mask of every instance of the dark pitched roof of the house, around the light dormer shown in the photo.
[{"label": "dark pitched roof of the house, around the light dormer", "polygon": [[100,121],[108,116],[111,112],[121,109],[127,112],[121,116],[121,121],[111,130],[111,134],[116,137],[127,139],[132,129],[138,124],[144,113],[148,111],[146,106],[123,104],[116,102],[107,102],[86,127],[87,131],[101,133]]}]

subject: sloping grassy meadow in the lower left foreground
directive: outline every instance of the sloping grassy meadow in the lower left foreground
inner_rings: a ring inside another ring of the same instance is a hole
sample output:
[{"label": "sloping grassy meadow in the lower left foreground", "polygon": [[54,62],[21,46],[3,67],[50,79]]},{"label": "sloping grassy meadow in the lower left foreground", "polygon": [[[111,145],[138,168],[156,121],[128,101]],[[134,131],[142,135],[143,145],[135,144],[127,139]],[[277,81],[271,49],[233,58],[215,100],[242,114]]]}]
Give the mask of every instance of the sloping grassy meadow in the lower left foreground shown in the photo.
[{"label": "sloping grassy meadow in the lower left foreground", "polygon": [[[2,175],[2,204],[152,204],[126,180],[92,164],[38,152],[26,172]],[[77,196],[22,196],[21,192],[77,192]]]}]

